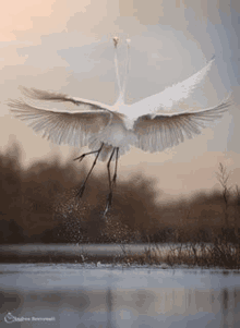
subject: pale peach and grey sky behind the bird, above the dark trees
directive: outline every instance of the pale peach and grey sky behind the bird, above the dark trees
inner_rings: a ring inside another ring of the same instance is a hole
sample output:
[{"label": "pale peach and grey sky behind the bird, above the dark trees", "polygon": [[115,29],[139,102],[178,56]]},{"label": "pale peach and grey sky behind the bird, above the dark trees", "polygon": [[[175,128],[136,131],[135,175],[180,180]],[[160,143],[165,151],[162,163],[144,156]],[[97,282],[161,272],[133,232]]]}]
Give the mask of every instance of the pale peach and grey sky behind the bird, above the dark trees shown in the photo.
[{"label": "pale peach and grey sky behind the bird, above the dark trees", "polygon": [[[26,86],[112,105],[118,97],[116,35],[122,41],[131,38],[128,104],[185,80],[213,54],[207,77],[185,108],[217,105],[229,93],[235,101],[220,121],[172,149],[147,154],[132,148],[120,159],[119,179],[142,172],[156,179],[163,197],[171,199],[216,187],[221,161],[233,170],[230,183],[240,185],[239,0],[7,1],[0,11],[1,151],[17,141],[25,167],[56,154],[62,162],[74,158],[74,148],[56,146],[12,118],[7,101],[20,98],[19,86]],[[119,56],[123,64],[123,42]],[[96,170],[106,170],[106,163]]]}]

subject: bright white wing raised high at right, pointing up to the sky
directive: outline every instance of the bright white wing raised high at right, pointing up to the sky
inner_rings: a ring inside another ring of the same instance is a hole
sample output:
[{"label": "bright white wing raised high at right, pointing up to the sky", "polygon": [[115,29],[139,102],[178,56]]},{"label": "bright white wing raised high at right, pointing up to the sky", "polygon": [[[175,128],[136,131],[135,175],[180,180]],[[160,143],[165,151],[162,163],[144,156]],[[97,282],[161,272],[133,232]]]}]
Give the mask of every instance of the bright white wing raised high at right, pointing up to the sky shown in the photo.
[{"label": "bright white wing raised high at right, pointing up to the sky", "polygon": [[163,109],[171,109],[173,105],[187,99],[194,88],[201,83],[209,71],[214,58],[199,72],[172,86],[167,87],[164,92],[149,96],[132,105],[134,114],[147,114],[159,112]]}]

